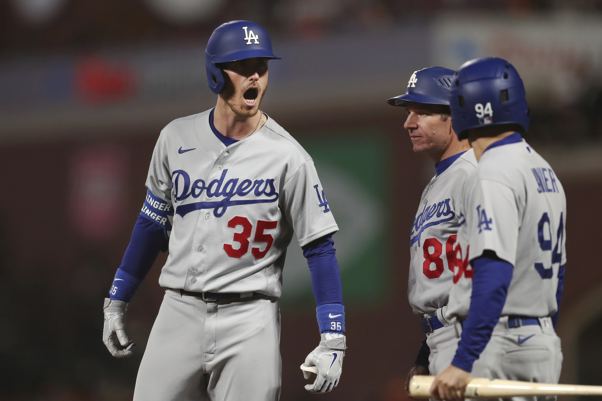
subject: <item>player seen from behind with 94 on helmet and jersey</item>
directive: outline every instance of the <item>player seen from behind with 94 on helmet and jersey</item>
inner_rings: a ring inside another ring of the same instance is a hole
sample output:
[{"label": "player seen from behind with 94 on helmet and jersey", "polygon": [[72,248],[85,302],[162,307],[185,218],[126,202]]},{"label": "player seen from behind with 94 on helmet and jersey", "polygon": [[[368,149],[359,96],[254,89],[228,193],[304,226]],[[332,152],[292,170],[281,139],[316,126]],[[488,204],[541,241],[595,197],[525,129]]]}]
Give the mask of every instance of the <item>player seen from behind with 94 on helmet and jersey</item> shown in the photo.
[{"label": "player seen from behind with 94 on helmet and jersey", "polygon": [[548,162],[521,138],[529,125],[523,81],[506,60],[468,61],[452,78],[450,107],[479,164],[460,206],[446,316],[461,333],[458,349],[432,396],[464,398],[469,375],[557,383],[566,198]]}]

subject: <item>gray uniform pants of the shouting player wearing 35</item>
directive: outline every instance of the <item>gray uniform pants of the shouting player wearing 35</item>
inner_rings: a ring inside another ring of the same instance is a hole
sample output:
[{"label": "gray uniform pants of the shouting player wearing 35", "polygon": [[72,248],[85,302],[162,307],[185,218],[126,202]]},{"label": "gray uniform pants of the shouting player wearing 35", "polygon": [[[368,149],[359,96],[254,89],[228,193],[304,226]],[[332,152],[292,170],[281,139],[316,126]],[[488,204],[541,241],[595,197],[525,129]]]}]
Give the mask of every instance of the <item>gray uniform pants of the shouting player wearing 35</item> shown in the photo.
[{"label": "gray uniform pants of the shouting player wearing 35", "polygon": [[134,401],[278,401],[278,301],[205,302],[167,290]]}]

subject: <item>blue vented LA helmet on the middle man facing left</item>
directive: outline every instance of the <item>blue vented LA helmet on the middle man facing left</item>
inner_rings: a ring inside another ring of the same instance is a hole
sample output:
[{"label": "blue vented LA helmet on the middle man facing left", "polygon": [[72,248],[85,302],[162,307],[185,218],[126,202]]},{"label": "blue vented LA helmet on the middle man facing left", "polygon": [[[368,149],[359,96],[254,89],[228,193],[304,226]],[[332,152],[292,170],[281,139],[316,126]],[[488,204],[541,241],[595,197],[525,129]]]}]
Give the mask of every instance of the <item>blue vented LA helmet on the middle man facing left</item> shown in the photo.
[{"label": "blue vented LA helmet on the middle man facing left", "polygon": [[414,71],[405,94],[391,97],[386,102],[391,106],[405,106],[407,102],[450,104],[450,86],[456,72],[443,67],[429,67]]}]

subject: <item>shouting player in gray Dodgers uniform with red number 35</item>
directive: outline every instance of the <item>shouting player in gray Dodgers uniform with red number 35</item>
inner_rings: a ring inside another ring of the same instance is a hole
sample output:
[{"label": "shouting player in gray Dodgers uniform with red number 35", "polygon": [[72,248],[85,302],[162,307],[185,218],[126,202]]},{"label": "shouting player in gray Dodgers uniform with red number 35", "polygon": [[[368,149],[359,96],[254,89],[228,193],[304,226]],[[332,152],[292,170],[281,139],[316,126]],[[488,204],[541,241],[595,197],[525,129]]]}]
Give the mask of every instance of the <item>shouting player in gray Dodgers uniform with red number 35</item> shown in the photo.
[{"label": "shouting player in gray Dodgers uniform with red number 35", "polygon": [[205,52],[216,107],[161,131],[146,200],[104,305],[104,342],[127,357],[126,308],[167,233],[159,280],[167,290],[134,400],[279,399],[278,298],[293,233],[311,270],[321,332],[304,364],[318,375],[305,388],[326,393],[338,384],[346,349],[331,238],[338,227],[312,159],[259,111],[268,60],[277,58],[256,23],[219,26]]}]

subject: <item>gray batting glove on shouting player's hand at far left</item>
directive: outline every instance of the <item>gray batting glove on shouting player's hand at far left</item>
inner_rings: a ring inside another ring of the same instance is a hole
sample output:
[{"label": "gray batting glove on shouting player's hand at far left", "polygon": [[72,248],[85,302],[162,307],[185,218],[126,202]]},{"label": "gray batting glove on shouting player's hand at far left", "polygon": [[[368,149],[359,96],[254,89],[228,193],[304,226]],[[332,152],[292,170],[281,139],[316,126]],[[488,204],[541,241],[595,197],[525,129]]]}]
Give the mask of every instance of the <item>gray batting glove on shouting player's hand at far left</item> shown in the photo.
[{"label": "gray batting glove on shouting player's hand at far left", "polygon": [[102,342],[115,358],[126,358],[134,354],[134,341],[129,341],[125,334],[125,311],[128,302],[105,298],[105,326],[102,331]]}]

